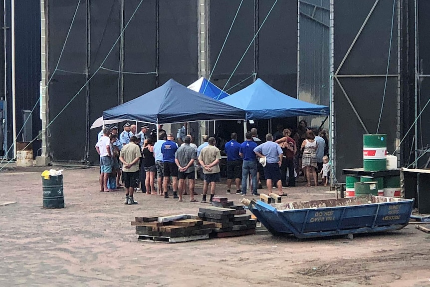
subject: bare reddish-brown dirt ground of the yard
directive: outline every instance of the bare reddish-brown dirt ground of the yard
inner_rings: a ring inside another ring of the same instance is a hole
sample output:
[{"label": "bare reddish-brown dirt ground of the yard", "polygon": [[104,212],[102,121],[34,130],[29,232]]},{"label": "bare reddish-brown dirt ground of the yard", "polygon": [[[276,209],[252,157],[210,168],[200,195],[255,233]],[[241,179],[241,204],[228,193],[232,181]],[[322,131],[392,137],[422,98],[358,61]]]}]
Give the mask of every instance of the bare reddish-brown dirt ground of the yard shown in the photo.
[{"label": "bare reddish-brown dirt ground of the yard", "polygon": [[[430,235],[411,225],[353,240],[251,235],[143,243],[130,225],[135,216],[195,214],[205,204],[138,193],[139,205],[127,206],[123,192],[98,191],[97,169],[68,168],[66,208],[46,210],[42,170],[0,174],[0,201],[17,202],[0,206],[0,287],[430,286]],[[220,184],[217,193],[224,192]],[[284,201],[335,196],[326,187],[287,192]]]}]

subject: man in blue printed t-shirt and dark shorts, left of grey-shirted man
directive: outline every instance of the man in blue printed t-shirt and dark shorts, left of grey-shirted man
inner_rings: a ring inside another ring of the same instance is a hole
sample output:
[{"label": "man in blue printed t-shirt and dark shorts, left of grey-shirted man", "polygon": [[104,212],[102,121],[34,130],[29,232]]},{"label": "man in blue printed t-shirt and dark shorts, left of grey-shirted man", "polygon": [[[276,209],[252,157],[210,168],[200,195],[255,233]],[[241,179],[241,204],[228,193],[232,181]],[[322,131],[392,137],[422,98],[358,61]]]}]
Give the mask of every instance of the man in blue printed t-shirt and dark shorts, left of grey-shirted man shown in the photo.
[{"label": "man in blue printed t-shirt and dark shorts, left of grey-shirted man", "polygon": [[163,154],[164,180],[163,190],[164,198],[169,198],[168,184],[172,176],[173,181],[173,198],[178,199],[178,166],[175,163],[175,153],[178,150],[178,145],[173,141],[173,134],[167,135],[167,141],[161,145]]}]

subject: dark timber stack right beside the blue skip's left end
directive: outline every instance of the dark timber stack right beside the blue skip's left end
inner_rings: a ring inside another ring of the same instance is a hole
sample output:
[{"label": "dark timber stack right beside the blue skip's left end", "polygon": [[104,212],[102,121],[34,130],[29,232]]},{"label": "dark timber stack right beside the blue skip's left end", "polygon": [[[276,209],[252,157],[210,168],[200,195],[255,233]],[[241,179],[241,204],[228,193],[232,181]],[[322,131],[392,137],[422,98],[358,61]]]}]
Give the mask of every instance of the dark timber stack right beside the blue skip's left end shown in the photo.
[{"label": "dark timber stack right beside the blue skip's left end", "polygon": [[[215,198],[214,198],[215,199]],[[243,205],[200,208],[199,218],[215,224],[211,237],[235,237],[255,234],[256,220],[246,215]]]}]

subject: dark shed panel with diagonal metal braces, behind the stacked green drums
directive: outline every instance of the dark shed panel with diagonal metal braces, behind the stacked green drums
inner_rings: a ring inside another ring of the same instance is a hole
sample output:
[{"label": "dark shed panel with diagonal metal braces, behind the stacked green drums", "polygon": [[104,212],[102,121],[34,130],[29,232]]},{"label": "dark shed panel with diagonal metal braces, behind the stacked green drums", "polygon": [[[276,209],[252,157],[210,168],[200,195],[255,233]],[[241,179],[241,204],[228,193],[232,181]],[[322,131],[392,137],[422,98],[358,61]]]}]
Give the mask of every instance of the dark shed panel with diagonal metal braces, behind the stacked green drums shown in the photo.
[{"label": "dark shed panel with diagonal metal braces, behind the stacked green drums", "polygon": [[[342,169],[363,166],[363,134],[376,133],[382,105],[392,20],[392,0],[380,0],[369,16],[355,45],[346,56],[374,0],[334,0],[334,165],[336,177]],[[394,18],[386,98],[379,133],[387,134],[387,148],[393,152],[399,137],[398,10]],[[377,35],[377,36],[376,36]],[[343,64],[341,65],[341,63]],[[340,68],[339,68],[340,67]],[[357,77],[361,75],[360,77]],[[383,75],[383,76],[380,76]],[[345,90],[343,92],[342,88]],[[348,102],[349,97],[351,104]],[[357,111],[355,114],[353,108]],[[359,121],[361,118],[363,125]]]}]

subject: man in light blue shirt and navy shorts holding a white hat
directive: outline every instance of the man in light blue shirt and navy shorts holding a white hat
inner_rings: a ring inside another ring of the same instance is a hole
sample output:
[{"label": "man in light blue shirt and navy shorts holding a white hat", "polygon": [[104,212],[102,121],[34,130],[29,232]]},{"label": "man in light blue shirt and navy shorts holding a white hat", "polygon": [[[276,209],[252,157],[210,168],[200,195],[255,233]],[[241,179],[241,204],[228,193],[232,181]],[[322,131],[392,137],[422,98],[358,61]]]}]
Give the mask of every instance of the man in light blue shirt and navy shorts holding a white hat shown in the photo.
[{"label": "man in light blue shirt and navy shorts holding a white hat", "polygon": [[255,154],[262,158],[266,158],[266,166],[264,166],[264,177],[266,178],[267,189],[269,195],[272,193],[272,182],[276,183],[278,195],[286,195],[282,192],[281,171],[279,167],[282,164],[282,149],[273,142],[272,134],[266,135],[266,142],[254,148]]}]

